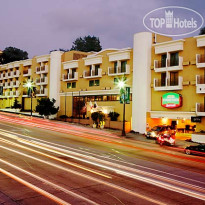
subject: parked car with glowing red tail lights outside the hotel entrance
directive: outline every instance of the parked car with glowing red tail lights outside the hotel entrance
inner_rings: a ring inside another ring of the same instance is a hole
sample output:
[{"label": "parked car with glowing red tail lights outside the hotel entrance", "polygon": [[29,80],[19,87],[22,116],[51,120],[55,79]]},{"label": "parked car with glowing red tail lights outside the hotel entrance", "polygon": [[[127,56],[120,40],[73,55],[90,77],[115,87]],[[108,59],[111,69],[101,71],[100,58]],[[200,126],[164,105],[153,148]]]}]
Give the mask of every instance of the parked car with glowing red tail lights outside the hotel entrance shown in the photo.
[{"label": "parked car with glowing red tail lights outside the hotel entrance", "polygon": [[156,143],[162,145],[175,146],[175,131],[168,130],[157,135]]}]

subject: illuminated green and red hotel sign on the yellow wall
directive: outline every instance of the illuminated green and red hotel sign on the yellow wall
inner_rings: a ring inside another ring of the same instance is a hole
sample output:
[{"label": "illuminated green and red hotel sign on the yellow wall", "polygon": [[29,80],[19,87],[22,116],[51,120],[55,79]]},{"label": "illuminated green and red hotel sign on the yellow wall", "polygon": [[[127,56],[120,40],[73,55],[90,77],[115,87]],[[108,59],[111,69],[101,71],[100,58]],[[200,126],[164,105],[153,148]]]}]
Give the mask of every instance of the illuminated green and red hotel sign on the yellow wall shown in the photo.
[{"label": "illuminated green and red hotel sign on the yellow wall", "polygon": [[181,107],[182,96],[178,93],[166,93],[161,98],[161,105],[165,108]]}]

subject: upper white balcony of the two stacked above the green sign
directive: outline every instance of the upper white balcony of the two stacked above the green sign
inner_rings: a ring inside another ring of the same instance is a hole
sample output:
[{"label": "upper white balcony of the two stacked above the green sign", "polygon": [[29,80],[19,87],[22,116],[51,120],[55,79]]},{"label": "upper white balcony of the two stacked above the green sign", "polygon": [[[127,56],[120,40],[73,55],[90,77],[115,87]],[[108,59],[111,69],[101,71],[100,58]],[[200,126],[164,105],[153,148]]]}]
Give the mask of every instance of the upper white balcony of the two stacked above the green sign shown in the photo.
[{"label": "upper white balcony of the two stacked above the green sign", "polygon": [[179,71],[183,70],[183,57],[179,56],[178,61],[166,59],[166,61],[154,60],[155,72]]}]

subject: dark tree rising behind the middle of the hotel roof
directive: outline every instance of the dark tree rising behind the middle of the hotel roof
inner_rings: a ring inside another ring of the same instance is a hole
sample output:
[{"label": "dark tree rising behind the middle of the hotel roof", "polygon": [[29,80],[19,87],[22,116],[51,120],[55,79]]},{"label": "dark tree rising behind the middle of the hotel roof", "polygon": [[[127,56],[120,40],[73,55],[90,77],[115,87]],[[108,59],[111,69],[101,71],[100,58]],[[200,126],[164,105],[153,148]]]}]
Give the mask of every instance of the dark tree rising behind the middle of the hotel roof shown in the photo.
[{"label": "dark tree rising behind the middle of the hotel roof", "polygon": [[95,36],[85,36],[85,37],[79,37],[77,38],[71,47],[70,50],[76,50],[76,51],[84,51],[84,52],[90,52],[90,51],[101,51],[102,46],[100,45],[100,40],[98,37]]}]

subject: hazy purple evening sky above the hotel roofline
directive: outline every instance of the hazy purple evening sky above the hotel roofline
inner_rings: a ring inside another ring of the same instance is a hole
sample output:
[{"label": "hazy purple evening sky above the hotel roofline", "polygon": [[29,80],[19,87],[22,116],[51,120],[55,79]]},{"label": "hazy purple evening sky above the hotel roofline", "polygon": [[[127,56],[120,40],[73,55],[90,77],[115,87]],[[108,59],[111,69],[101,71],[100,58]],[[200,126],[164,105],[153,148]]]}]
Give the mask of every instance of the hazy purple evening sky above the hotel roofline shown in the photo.
[{"label": "hazy purple evening sky above the hotel roofline", "polygon": [[163,6],[191,8],[205,18],[204,0],[2,0],[0,49],[14,46],[32,58],[70,49],[85,35],[98,36],[103,48],[132,47],[133,34],[147,31],[143,17]]}]

